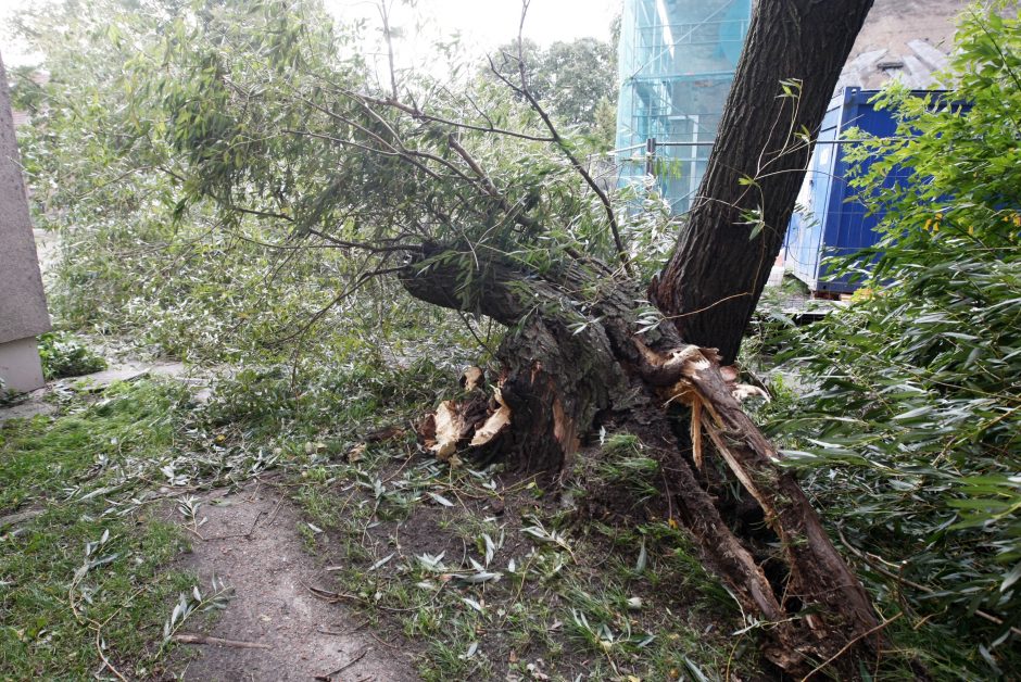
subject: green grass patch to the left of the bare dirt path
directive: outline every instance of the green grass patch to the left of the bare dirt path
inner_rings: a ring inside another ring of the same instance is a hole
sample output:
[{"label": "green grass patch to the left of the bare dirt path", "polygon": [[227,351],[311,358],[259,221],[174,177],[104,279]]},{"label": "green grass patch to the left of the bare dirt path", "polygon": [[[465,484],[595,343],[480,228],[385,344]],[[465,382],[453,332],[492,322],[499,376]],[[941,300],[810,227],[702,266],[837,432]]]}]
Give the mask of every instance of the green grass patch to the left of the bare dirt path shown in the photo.
[{"label": "green grass patch to the left of the bare dirt path", "polygon": [[129,475],[174,446],[185,400],[123,384],[0,427],[0,514],[39,513],[0,530],[0,679],[90,679],[101,647],[123,674],[159,668],[163,622],[194,580],[166,571],[186,543],[159,503],[129,501],[146,485]]}]

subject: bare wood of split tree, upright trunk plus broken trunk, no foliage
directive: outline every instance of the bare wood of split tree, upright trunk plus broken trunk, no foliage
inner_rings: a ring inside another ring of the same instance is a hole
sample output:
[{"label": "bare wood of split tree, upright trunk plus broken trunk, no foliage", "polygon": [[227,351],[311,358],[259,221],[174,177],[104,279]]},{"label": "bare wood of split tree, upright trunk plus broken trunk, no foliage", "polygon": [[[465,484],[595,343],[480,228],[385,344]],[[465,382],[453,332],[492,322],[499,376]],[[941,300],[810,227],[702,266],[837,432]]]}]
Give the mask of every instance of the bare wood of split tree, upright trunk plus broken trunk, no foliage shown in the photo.
[{"label": "bare wood of split tree, upright trunk plus broken trunk, no foliage", "polygon": [[[474,249],[478,271],[467,291],[459,268],[446,265],[456,258],[442,257],[459,251],[448,244],[418,254],[402,278],[417,299],[508,328],[497,359],[509,425],[487,433],[478,454],[558,473],[601,425],[639,435],[669,471],[670,506],[742,607],[767,623],[766,655],[790,673],[832,664],[856,675],[856,660],[879,646],[881,624],[804,492],[777,465],[777,450],[742,411],[721,363],[736,356],[804,177],[810,131],[871,4],[756,4],[701,197],[647,289],[672,324],[640,330],[634,311],[645,288],[581,261],[538,276]],[[583,302],[579,292],[589,292]],[[689,440],[678,437],[670,403],[691,407]],[[467,444],[470,425],[461,429],[456,438]],[[782,547],[781,579],[767,578],[718,508],[707,453],[761,508]]]}]

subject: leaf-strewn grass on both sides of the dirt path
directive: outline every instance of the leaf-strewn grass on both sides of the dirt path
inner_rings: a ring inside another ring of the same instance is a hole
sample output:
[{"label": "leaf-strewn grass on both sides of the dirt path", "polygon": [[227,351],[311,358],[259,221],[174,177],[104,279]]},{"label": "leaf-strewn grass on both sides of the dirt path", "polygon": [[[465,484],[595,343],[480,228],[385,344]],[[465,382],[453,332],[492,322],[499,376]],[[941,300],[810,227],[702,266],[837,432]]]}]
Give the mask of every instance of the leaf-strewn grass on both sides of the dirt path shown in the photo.
[{"label": "leaf-strewn grass on both sides of the dirt path", "polygon": [[[0,679],[87,679],[100,647],[125,675],[173,672],[163,626],[194,578],[166,572],[185,539],[160,520],[172,503],[147,496],[171,479],[240,483],[269,466],[323,531],[299,525],[305,550],[340,567],[326,586],[381,636],[407,637],[426,680],[724,670],[740,616],[668,523],[579,523],[529,479],[416,454],[409,432],[349,458],[365,433],[407,424],[448,383],[427,364],[358,366],[300,390],[287,372],[247,370],[204,406],[173,382],[141,381],[7,425],[0,514],[41,514],[0,541]],[[648,488],[657,468],[634,439],[605,450],[604,483]],[[497,502],[506,510],[494,516]],[[500,577],[476,580],[486,572]],[[757,660],[748,649],[745,672]]]}]

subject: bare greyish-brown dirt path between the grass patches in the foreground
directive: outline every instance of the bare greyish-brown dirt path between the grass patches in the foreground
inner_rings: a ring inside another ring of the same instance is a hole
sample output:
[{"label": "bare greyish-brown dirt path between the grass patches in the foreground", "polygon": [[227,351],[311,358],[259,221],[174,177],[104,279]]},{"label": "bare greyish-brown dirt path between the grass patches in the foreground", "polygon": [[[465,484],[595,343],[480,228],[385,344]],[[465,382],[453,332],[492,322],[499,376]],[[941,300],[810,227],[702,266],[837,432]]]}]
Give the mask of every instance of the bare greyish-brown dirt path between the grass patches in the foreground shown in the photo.
[{"label": "bare greyish-brown dirt path between the grass patches in the foreground", "polygon": [[339,604],[314,596],[308,585],[329,585],[297,532],[292,505],[267,484],[253,482],[236,494],[213,492],[198,519],[207,519],[184,567],[236,591],[212,630],[202,634],[239,644],[188,644],[180,657],[184,680],[202,682],[418,680],[411,659],[392,642],[380,642]]}]

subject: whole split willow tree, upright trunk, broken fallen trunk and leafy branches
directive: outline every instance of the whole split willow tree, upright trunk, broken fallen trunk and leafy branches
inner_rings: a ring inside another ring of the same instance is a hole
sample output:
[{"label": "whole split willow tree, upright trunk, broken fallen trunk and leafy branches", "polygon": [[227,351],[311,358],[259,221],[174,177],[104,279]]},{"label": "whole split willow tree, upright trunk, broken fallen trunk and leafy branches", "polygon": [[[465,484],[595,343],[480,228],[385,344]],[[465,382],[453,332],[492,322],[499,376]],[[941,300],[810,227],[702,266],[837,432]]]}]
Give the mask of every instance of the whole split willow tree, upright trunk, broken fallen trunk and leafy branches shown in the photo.
[{"label": "whole split willow tree, upright trunk, broken fallen trunk and leafy branches", "polygon": [[[615,210],[522,61],[455,92],[399,77],[391,59],[374,86],[311,4],[253,5],[243,28],[217,5],[168,28],[162,77],[129,78],[131,121],[150,163],[179,180],[181,210],[202,202],[227,227],[257,220],[294,245],[350,251],[362,267],[337,300],[389,276],[505,328],[497,394],[444,403],[424,426],[440,454],[559,477],[598,456],[601,429],[636,435],[664,472],[664,508],[766,623],[767,656],[856,674],[881,624],[734,397],[730,365],[871,4],[756,3],[698,199],[655,277],[648,223]],[[728,481],[752,512],[724,500]],[[735,514],[766,530],[739,535]],[[771,574],[767,546],[783,566]]]}]

